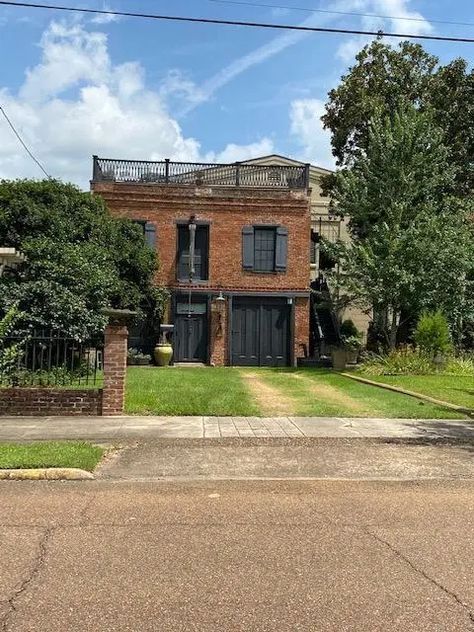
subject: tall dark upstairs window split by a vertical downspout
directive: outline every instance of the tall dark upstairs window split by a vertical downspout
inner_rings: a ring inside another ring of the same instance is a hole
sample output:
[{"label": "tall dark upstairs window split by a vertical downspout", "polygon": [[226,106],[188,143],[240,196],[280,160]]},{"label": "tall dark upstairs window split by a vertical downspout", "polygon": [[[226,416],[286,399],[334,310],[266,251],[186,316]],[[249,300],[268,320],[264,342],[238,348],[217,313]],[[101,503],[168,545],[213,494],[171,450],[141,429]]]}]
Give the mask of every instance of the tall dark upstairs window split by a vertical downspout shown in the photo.
[{"label": "tall dark upstairs window split by a vertical downspout", "polygon": [[[190,231],[188,224],[178,225],[178,257],[177,276],[179,281],[189,281],[191,273],[191,260],[189,256]],[[194,246],[194,281],[207,281],[209,279],[209,226],[198,224],[196,226],[196,239]]]}]

